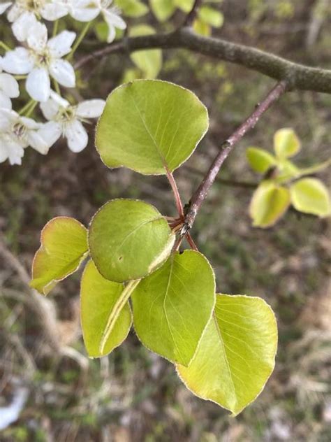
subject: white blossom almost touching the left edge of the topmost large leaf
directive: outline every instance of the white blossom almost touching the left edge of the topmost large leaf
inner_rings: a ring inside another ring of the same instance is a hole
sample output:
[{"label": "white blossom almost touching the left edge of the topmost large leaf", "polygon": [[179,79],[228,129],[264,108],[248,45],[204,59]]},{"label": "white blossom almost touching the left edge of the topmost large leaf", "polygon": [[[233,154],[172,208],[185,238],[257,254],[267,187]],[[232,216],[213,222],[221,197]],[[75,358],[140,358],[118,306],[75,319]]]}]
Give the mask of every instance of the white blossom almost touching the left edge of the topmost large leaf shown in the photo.
[{"label": "white blossom almost touching the left edge of the topmost large leaf", "polygon": [[88,142],[87,131],[82,122],[99,117],[104,106],[105,101],[101,99],[86,100],[77,106],[71,106],[68,101],[52,92],[52,98],[41,103],[43,115],[49,122],[43,124],[38,133],[49,144],[64,136],[68,148],[73,152],[80,152],[86,148]]}]

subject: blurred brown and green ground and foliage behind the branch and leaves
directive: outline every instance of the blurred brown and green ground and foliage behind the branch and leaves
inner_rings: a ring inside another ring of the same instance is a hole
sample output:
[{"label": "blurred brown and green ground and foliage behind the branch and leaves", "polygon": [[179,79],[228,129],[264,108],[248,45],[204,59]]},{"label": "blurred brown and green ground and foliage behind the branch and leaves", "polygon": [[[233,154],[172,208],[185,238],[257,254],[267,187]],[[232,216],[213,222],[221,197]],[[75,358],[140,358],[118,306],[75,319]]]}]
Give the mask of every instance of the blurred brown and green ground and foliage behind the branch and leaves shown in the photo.
[{"label": "blurred brown and green ground and foliage behind the branch and leaves", "polygon": [[[192,2],[116,3],[124,10],[128,34],[141,35],[174,29]],[[69,18],[59,25],[77,30],[82,26]],[[331,67],[330,0],[205,1],[194,27],[297,62]],[[5,17],[0,17],[0,38],[10,45]],[[104,39],[103,23],[95,22],[76,59],[104,47]],[[273,84],[259,73],[184,50],[112,55],[84,66],[78,76],[75,99],[105,98],[124,80],[155,76],[198,94],[209,109],[211,124],[196,153],[175,173],[184,201],[221,141]],[[330,120],[330,96],[287,94],[235,147],[220,178],[256,181],[245,148],[259,145],[272,152],[272,135],[281,127],[293,127],[300,136],[297,164],[325,161],[330,154]],[[328,181],[328,172],[321,178]],[[289,211],[270,229],[253,228],[248,213],[252,192],[250,187],[216,182],[192,231],[214,266],[219,291],[263,297],[277,314],[274,374],[257,401],[234,419],[215,404],[193,397],[172,366],[142,348],[134,332],[109,357],[88,360],[80,336],[77,275],[59,284],[51,296],[58,318],[54,338],[76,350],[74,357],[58,356],[31,308],[34,298],[24,272],[17,273],[15,259],[30,268],[41,228],[54,216],[69,215],[87,224],[101,204],[115,197],[145,199],[174,215],[165,178],[110,171],[92,142],[78,155],[59,142],[46,157],[29,150],[22,166],[1,164],[1,248],[6,244],[15,258],[0,254],[0,407],[22,388],[27,403],[0,440],[330,441],[328,220]]]}]

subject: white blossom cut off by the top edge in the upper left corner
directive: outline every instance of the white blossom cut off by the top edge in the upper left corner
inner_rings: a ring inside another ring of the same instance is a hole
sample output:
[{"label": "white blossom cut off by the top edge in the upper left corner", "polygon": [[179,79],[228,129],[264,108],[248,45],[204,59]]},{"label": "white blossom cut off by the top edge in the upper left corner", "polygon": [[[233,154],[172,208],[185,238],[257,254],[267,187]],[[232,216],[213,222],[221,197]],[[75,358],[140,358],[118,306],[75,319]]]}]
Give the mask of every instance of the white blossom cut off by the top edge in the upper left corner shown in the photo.
[{"label": "white blossom cut off by the top edge in the upper left corner", "polygon": [[26,41],[36,23],[36,17],[57,20],[68,13],[66,0],[16,0],[0,5],[0,14],[8,10],[8,20],[13,22],[13,33],[17,40]]}]

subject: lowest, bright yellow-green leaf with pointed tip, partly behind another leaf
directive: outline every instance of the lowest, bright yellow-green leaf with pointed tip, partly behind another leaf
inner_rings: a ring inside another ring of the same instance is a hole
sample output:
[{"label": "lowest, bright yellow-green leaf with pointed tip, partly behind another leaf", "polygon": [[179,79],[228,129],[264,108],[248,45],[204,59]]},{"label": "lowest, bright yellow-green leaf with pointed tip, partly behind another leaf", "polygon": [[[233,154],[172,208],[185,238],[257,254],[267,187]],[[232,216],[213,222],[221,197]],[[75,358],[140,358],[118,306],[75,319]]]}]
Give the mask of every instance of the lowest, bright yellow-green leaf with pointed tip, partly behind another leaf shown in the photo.
[{"label": "lowest, bright yellow-green leaf with pointed tip, partly behind another leaf", "polygon": [[219,294],[196,355],[177,371],[198,397],[237,415],[263,390],[276,352],[277,322],[270,306],[256,297]]}]

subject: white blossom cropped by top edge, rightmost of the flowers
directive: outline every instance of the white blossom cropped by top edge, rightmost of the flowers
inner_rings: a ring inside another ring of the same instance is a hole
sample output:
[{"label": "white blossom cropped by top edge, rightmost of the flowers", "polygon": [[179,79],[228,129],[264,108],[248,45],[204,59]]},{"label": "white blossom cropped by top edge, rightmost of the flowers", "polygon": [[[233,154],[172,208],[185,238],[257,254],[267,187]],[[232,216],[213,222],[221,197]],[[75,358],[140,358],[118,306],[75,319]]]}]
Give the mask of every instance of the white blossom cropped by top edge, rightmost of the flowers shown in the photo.
[{"label": "white blossom cropped by top edge, rightmost of the flowers", "polygon": [[111,43],[116,35],[115,28],[125,29],[126,22],[119,16],[119,9],[110,7],[112,0],[71,0],[69,13],[80,22],[94,20],[100,13],[108,24],[108,43]]}]

